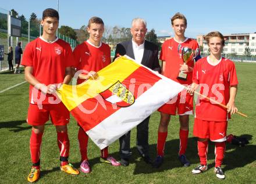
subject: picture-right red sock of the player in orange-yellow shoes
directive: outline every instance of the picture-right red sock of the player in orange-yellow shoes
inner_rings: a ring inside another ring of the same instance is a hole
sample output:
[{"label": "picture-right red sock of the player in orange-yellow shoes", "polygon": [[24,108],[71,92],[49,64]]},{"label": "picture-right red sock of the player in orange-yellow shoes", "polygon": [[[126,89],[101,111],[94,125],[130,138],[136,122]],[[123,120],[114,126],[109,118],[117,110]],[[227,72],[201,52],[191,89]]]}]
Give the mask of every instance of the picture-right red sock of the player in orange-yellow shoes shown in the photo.
[{"label": "picture-right red sock of the player in orange-yellow shoes", "polygon": [[69,164],[67,159],[69,158],[69,136],[67,132],[57,132],[57,142],[60,151],[61,165]]}]

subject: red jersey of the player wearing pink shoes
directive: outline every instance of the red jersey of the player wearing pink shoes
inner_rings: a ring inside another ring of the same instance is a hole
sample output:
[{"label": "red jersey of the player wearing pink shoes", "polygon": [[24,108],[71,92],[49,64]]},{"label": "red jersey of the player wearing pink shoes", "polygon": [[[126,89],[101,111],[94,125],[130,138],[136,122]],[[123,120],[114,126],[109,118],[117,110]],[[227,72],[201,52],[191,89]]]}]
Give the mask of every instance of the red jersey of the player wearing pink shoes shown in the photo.
[{"label": "red jersey of the player wearing pink shoes", "polygon": [[[77,45],[73,51],[76,68],[78,70],[86,70],[83,74],[90,71],[99,71],[111,63],[111,54],[108,44],[101,43],[100,46],[94,46],[89,41],[85,41]],[[81,84],[84,80],[77,79],[77,84]]]}]

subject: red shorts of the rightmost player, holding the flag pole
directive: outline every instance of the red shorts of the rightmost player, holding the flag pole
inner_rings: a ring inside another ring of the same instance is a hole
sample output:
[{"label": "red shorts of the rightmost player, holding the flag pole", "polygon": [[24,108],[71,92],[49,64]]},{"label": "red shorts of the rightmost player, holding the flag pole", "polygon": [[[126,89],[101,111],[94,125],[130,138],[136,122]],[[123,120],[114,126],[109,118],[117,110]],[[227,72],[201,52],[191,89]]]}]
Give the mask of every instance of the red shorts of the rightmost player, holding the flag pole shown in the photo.
[{"label": "red shorts of the rightmost player, holding the flag pole", "polygon": [[205,121],[195,118],[194,136],[214,142],[226,141],[227,121]]}]

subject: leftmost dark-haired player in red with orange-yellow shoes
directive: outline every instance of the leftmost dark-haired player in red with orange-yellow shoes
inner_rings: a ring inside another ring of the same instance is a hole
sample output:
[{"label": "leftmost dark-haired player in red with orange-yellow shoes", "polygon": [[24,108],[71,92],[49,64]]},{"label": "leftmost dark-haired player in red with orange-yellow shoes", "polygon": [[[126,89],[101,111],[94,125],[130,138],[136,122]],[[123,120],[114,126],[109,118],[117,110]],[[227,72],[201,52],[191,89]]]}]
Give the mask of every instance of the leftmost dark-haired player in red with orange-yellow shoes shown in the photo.
[{"label": "leftmost dark-haired player in red with orange-yellow shoes", "polygon": [[56,98],[57,86],[69,84],[72,78],[72,49],[67,42],[56,38],[59,14],[54,9],[45,9],[42,13],[42,36],[26,46],[22,65],[25,66],[25,78],[30,84],[29,110],[27,122],[32,125],[30,153],[33,167],[27,180],[35,182],[40,176],[40,147],[44,124],[51,117],[56,127],[57,142],[60,151],[61,171],[78,175],[67,160],[69,157],[69,137],[67,123],[69,110]]}]

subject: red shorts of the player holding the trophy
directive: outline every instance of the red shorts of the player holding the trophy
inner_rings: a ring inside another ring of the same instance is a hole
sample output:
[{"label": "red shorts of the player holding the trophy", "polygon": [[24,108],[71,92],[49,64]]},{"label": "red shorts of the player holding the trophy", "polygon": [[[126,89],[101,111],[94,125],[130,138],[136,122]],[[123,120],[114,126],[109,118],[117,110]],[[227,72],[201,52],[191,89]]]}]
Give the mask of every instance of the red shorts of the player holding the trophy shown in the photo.
[{"label": "red shorts of the player holding the trophy", "polygon": [[193,114],[193,95],[182,91],[158,109],[161,113],[173,116],[176,115],[176,110],[179,115]]}]

